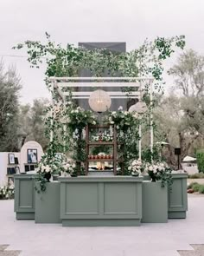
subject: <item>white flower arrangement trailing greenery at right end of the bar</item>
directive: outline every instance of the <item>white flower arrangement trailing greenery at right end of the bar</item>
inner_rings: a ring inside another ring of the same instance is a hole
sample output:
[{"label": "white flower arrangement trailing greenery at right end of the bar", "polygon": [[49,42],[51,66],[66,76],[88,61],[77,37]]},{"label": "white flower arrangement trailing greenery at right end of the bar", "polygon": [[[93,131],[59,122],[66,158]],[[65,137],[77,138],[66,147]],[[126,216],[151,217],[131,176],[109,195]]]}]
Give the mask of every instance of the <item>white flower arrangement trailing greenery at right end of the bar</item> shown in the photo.
[{"label": "white flower arrangement trailing greenery at right end of the bar", "polygon": [[146,163],[144,172],[149,174],[151,181],[162,181],[162,187],[165,186],[165,183],[171,187],[173,183],[172,170],[166,162]]}]

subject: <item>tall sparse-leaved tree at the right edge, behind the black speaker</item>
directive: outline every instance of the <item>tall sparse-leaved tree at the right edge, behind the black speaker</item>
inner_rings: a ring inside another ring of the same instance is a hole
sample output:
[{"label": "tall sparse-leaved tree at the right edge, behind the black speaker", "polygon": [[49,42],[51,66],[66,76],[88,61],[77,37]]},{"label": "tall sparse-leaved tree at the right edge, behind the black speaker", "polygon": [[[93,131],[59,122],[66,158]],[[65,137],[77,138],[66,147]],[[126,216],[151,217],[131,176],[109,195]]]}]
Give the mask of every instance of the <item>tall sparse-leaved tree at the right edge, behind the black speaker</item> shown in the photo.
[{"label": "tall sparse-leaved tree at the right edge, behind the black speaker", "polygon": [[204,139],[204,57],[192,49],[182,54],[169,74],[175,77],[176,90],[182,94],[172,93],[160,102],[156,108],[155,120],[169,142],[169,161],[175,162],[174,147],[181,147],[182,158],[195,154],[196,149],[203,148]]}]

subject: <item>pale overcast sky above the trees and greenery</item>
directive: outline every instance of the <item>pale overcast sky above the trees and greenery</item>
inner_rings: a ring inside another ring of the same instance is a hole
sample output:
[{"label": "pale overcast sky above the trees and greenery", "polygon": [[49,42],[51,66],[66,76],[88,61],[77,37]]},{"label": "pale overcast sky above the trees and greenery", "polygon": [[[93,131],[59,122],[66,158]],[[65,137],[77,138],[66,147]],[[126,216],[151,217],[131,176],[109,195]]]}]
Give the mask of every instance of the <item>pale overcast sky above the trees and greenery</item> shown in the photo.
[{"label": "pale overcast sky above the trees and greenery", "polygon": [[204,54],[204,0],[1,0],[0,55],[22,77],[23,103],[48,97],[44,69],[11,57],[25,55],[11,48],[25,40],[44,41],[45,31],[63,45],[126,42],[127,50],[146,37],[185,35],[187,49]]}]

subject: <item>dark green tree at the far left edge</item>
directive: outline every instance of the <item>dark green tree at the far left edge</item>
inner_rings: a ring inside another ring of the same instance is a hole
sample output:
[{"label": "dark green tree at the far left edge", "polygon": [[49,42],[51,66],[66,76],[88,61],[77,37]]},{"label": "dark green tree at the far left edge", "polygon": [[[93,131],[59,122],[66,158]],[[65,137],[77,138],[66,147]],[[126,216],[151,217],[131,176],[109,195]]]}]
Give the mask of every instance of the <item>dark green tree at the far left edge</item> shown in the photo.
[{"label": "dark green tree at the far left edge", "polygon": [[22,88],[16,69],[0,62],[0,151],[18,150],[18,107]]}]

